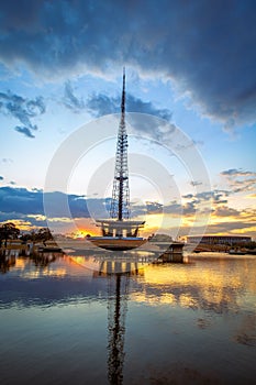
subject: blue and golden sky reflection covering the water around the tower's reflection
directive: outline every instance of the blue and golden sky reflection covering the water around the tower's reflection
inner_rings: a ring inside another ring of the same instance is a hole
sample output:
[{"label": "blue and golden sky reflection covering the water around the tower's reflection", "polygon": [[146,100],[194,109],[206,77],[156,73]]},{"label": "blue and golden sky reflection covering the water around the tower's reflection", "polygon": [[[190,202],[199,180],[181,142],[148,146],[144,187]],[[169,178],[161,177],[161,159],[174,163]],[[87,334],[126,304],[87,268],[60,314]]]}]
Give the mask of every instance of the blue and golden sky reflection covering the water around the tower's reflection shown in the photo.
[{"label": "blue and golden sky reflection covering the water around the tower's reflection", "polygon": [[[0,275],[3,382],[107,383],[115,276],[97,264],[19,257]],[[255,257],[210,255],[122,276],[123,383],[252,383],[255,276]]]}]

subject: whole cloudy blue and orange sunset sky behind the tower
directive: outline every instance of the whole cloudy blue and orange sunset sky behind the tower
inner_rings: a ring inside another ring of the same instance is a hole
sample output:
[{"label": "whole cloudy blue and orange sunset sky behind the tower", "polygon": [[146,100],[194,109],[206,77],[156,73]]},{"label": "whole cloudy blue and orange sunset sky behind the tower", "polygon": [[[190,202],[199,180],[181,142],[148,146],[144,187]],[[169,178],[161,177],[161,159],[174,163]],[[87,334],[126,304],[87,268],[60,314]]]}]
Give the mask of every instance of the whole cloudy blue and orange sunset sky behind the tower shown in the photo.
[{"label": "whole cloudy blue and orange sunset sky behind the tower", "polygon": [[122,74],[145,234],[255,239],[255,1],[0,1],[0,222],[97,233]]}]

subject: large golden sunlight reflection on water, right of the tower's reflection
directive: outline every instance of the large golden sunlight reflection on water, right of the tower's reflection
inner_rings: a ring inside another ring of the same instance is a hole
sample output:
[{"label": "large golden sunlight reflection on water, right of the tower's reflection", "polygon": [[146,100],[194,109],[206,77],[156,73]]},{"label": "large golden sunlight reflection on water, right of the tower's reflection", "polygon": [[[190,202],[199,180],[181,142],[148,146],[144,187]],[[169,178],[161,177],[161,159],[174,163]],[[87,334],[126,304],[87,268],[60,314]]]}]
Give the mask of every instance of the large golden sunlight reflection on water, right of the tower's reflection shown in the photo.
[{"label": "large golden sunlight reflection on water, right of the tower's reflection", "polygon": [[218,314],[236,312],[240,307],[256,308],[252,260],[215,255],[205,258],[196,256],[190,262],[146,266],[144,289],[131,293],[131,299],[151,306],[169,304]]}]

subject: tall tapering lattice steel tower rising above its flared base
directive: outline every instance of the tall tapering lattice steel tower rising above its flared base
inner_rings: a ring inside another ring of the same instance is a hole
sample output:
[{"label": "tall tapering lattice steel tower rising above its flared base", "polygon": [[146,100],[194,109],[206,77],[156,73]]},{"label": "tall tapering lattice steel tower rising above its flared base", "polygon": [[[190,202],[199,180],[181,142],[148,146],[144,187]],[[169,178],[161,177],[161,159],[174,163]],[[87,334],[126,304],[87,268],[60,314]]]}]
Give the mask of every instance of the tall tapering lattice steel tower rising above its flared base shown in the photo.
[{"label": "tall tapering lattice steel tower rising above its flared base", "polygon": [[123,91],[121,120],[119,124],[115,170],[110,207],[110,217],[122,221],[130,218],[130,190],[127,167],[127,133],[125,127],[125,68],[123,68]]}]

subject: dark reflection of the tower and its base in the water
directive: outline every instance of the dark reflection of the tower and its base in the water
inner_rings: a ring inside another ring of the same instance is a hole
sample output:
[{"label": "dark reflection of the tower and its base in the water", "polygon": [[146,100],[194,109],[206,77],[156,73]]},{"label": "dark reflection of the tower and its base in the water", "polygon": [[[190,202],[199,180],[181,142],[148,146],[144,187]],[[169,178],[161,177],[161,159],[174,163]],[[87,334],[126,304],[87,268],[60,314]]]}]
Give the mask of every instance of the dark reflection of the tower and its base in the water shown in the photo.
[{"label": "dark reflection of the tower and its base in the water", "polygon": [[136,262],[103,260],[93,276],[108,279],[108,378],[109,384],[123,383],[124,334],[131,275],[138,275]]}]

